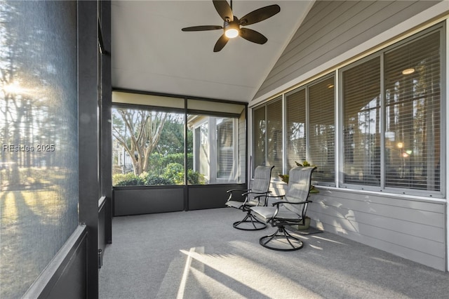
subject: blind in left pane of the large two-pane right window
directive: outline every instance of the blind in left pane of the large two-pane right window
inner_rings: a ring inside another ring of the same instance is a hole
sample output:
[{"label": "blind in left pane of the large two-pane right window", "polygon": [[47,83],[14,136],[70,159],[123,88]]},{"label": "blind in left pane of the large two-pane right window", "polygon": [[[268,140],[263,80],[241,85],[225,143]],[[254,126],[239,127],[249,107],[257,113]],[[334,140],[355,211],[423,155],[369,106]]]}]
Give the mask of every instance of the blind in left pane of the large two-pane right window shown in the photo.
[{"label": "blind in left pane of the large two-pane right window", "polygon": [[343,180],[380,186],[380,57],[342,72]]}]

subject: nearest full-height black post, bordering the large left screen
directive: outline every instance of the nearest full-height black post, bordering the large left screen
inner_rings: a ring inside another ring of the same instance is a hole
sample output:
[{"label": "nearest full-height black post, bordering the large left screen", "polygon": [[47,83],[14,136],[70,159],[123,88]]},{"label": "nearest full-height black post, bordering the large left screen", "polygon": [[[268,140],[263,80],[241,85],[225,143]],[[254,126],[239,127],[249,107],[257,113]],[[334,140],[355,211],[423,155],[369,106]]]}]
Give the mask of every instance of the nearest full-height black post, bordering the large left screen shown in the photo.
[{"label": "nearest full-height black post, bordering the large left screen", "polygon": [[86,298],[90,299],[98,298],[97,8],[97,1],[78,1],[79,222],[85,224],[88,231]]}]

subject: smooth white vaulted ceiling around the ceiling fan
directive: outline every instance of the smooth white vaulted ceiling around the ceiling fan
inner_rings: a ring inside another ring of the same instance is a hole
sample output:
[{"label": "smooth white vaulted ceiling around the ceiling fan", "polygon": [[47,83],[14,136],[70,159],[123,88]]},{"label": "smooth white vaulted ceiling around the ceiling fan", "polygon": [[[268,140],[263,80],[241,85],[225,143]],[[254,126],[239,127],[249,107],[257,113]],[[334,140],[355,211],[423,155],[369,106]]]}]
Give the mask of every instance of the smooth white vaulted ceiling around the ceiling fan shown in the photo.
[{"label": "smooth white vaulted ceiling around the ceiling fan", "polygon": [[264,45],[241,37],[222,51],[213,47],[222,29],[182,32],[196,25],[223,25],[211,0],[112,1],[112,86],[249,102],[287,46],[312,1],[232,1],[241,18],[278,4],[280,13],[248,25]]}]

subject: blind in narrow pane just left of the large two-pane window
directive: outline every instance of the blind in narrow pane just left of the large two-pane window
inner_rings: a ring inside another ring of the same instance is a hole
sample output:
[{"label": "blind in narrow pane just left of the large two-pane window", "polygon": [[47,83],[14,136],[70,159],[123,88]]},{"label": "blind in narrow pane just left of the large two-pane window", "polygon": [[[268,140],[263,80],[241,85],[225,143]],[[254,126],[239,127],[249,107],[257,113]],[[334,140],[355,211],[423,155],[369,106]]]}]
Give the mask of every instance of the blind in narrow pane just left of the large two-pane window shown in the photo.
[{"label": "blind in narrow pane just left of the large two-pane window", "polygon": [[309,86],[309,163],[314,180],[335,185],[335,79]]}]

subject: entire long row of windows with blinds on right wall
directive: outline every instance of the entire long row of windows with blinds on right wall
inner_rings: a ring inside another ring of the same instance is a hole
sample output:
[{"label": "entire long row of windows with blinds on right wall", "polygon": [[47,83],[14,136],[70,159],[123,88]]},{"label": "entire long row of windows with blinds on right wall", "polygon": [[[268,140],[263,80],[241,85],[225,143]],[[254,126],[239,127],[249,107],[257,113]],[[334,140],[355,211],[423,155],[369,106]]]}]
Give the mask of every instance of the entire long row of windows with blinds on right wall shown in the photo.
[{"label": "entire long row of windows with blinds on right wall", "polygon": [[443,33],[436,25],[338,69],[338,82],[327,74],[255,107],[253,169],[275,165],[277,178],[305,160],[314,185],[441,196]]}]

